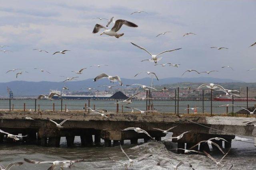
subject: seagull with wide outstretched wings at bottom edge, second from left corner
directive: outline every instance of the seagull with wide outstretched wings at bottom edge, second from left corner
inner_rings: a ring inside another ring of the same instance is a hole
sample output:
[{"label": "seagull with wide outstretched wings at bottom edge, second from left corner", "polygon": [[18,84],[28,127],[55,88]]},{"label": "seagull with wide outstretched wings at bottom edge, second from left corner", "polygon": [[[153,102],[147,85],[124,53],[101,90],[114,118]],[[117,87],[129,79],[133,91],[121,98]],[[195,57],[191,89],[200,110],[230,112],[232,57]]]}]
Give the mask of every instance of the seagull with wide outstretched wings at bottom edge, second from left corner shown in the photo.
[{"label": "seagull with wide outstretched wings at bottom edge, second from left corner", "polygon": [[31,159],[26,159],[24,158],[24,161],[32,164],[45,164],[45,163],[50,163],[52,166],[48,168],[48,170],[54,170],[56,167],[60,167],[62,170],[63,168],[71,168],[73,163],[76,162],[82,162],[84,159],[78,159],[78,160],[56,160],[56,161],[37,161],[37,160],[31,160]]}]

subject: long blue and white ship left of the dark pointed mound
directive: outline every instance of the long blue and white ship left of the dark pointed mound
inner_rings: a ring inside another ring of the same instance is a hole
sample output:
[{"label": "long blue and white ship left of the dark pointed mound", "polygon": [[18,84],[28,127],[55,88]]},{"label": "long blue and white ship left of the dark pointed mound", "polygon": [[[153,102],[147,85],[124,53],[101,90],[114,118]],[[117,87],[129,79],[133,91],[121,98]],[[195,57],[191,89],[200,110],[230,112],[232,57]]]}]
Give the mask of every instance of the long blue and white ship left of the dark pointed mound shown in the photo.
[{"label": "long blue and white ship left of the dark pointed mound", "polygon": [[62,91],[58,90],[50,90],[50,93],[56,93],[58,95],[54,95],[52,99],[69,99],[69,100],[86,100],[86,99],[110,99],[113,94],[109,94],[108,92],[95,92],[95,95],[72,95],[66,94]]}]

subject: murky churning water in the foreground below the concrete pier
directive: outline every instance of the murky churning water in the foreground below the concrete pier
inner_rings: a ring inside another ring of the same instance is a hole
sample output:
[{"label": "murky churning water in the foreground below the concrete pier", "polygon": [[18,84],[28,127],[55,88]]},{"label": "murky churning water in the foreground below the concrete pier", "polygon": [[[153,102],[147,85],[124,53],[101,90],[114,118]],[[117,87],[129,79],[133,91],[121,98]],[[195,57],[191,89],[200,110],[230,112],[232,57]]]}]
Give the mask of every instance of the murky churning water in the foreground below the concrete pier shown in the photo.
[{"label": "murky churning water in the foreground below the concrete pier", "polygon": [[[168,135],[170,136],[170,135]],[[164,138],[163,138],[164,139]],[[254,142],[252,139],[237,138],[247,142]],[[160,170],[165,169],[160,166],[156,166],[158,160],[168,159],[173,164],[177,164],[180,160],[186,160],[190,162],[196,170],[210,170],[217,169],[216,164],[204,155],[184,155],[176,154],[166,149],[163,142],[150,142],[142,143],[139,140],[138,145],[129,145],[129,141],[125,141],[123,146],[124,150],[131,158],[137,158],[144,154],[153,154],[151,159],[142,160],[141,162],[135,162],[133,167],[129,167],[130,170]],[[65,138],[61,139],[60,148],[54,147],[39,147],[35,145],[0,145],[0,163],[5,166],[11,162],[23,161],[23,158],[30,158],[34,160],[66,160],[66,159],[78,159],[85,158],[85,162],[79,162],[74,164],[72,169],[77,170],[119,170],[124,169],[120,164],[108,159],[108,156],[120,162],[128,162],[126,156],[122,153],[120,147],[80,147],[80,138],[75,138],[77,147],[67,148]],[[173,143],[173,147],[176,144]],[[222,154],[212,152],[211,155],[220,160]],[[230,153],[222,160],[222,163],[228,167],[234,164],[234,170],[255,170],[256,169],[256,147],[252,143],[244,143],[240,141],[232,141],[232,149]],[[51,164],[29,164],[24,163],[22,166],[16,166],[13,170],[46,170]],[[58,168],[56,168],[58,169]],[[172,167],[170,166],[170,169]],[[186,170],[188,168],[180,166],[179,169]]]}]

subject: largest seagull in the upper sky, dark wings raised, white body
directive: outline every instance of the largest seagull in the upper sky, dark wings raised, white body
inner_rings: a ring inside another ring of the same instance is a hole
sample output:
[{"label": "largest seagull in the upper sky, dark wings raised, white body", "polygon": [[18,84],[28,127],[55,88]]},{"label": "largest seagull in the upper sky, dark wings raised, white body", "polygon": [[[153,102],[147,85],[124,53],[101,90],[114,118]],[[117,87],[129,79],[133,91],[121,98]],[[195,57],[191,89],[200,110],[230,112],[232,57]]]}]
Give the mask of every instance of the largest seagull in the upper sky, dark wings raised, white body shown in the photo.
[{"label": "largest seagull in the upper sky, dark wings raised, white body", "polygon": [[128,27],[138,27],[138,25],[136,25],[135,23],[132,23],[130,21],[126,21],[126,20],[116,20],[114,26],[111,29],[107,29],[106,27],[104,27],[103,25],[100,24],[96,24],[94,26],[94,29],[92,31],[92,33],[98,33],[100,31],[101,28],[106,29],[105,31],[103,31],[100,35],[106,34],[109,36],[114,36],[116,38],[122,37],[124,35],[124,33],[117,33],[117,31],[120,30],[120,28],[122,27],[122,25],[126,25]]}]

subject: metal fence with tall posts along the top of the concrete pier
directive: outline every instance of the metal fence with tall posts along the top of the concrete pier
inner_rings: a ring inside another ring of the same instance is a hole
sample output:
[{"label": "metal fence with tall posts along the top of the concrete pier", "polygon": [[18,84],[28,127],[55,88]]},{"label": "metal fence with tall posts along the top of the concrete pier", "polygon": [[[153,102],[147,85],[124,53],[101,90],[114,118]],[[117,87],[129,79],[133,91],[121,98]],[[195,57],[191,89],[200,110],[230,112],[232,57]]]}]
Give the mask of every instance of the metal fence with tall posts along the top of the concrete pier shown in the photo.
[{"label": "metal fence with tall posts along the top of the concrete pier", "polygon": [[[255,88],[240,88],[235,95],[228,95],[224,92],[215,90],[197,90],[192,92],[189,89],[176,88],[169,92],[163,92],[162,96],[154,96],[154,93],[148,94],[154,100],[133,100],[132,104],[119,103],[120,100],[38,100],[38,99],[2,99],[0,100],[1,110],[20,110],[20,111],[88,111],[83,107],[91,107],[92,109],[103,108],[114,112],[131,112],[131,109],[125,106],[134,107],[141,110],[155,109],[162,113],[210,113],[222,114],[237,112],[241,107],[254,107],[256,104],[256,89]],[[142,94],[143,95],[143,94]],[[145,93],[146,95],[146,93]],[[151,95],[151,96],[150,96]],[[216,101],[218,100],[224,101]],[[234,104],[236,106],[219,107],[221,105]],[[187,109],[199,107],[197,109]],[[136,110],[134,110],[136,112]]]}]

